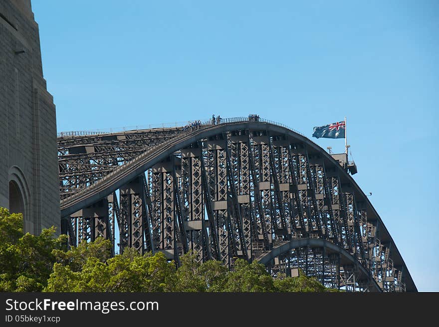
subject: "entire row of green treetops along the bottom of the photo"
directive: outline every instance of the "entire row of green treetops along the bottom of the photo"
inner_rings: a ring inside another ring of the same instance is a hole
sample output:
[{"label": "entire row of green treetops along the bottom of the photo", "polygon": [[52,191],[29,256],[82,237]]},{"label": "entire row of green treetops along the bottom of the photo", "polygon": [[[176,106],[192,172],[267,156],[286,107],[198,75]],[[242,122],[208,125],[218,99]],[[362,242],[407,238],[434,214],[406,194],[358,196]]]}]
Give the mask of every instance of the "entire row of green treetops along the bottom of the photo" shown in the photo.
[{"label": "entire row of green treetops along the bottom of the photo", "polygon": [[21,214],[0,208],[0,291],[3,292],[327,292],[315,278],[273,279],[257,261],[200,263],[192,252],[180,267],[161,252],[133,249],[111,257],[109,240],[98,238],[67,250],[55,228],[23,234]]}]

